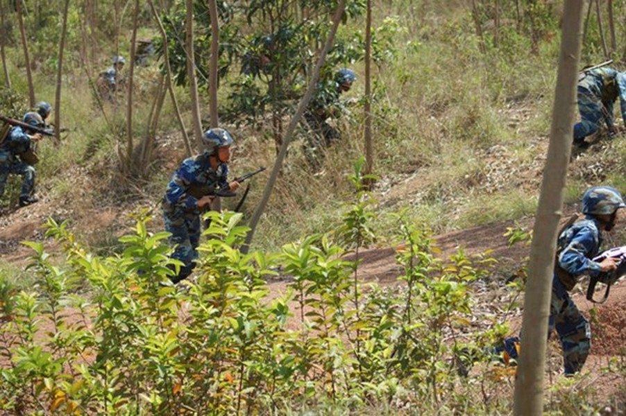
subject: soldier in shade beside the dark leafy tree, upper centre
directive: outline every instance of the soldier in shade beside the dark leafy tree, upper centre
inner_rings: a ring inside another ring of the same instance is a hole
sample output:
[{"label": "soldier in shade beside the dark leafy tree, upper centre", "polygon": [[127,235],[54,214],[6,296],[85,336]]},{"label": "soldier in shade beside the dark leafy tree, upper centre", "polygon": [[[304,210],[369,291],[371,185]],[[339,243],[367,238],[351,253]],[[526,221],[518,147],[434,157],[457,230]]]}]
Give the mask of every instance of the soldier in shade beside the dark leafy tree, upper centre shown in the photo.
[{"label": "soldier in shade beside the dark leafy tree, upper centre", "polygon": [[330,88],[325,88],[323,85],[317,86],[316,95],[304,113],[305,121],[313,132],[308,139],[309,143],[305,145],[305,155],[309,162],[316,162],[314,159],[319,156],[323,148],[341,140],[341,132],[326,120],[337,116],[339,96],[349,91],[356,79],[355,71],[343,68],[335,73]]}]

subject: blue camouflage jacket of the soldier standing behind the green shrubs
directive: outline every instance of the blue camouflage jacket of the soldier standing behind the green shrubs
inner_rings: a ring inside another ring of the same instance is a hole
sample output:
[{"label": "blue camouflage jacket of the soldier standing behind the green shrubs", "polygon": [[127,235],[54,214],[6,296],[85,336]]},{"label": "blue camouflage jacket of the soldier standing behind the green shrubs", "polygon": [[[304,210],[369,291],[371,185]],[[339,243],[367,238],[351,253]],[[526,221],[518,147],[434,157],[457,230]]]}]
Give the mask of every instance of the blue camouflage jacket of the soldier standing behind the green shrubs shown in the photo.
[{"label": "blue camouflage jacket of the soldier standing behind the green shrubs", "polygon": [[199,212],[198,199],[187,193],[189,187],[226,187],[228,182],[228,165],[219,164],[217,171],[213,171],[206,153],[196,157],[189,157],[178,166],[167,184],[167,191],[163,198],[163,211],[173,212],[182,209],[183,212]]}]

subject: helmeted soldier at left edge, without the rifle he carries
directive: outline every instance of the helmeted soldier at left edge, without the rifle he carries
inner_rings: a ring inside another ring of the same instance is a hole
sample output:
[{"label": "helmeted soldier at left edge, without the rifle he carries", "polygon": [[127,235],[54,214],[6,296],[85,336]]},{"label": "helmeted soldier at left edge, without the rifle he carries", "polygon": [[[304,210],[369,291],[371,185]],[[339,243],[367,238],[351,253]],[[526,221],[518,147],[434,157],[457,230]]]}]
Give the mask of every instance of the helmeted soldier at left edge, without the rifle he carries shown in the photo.
[{"label": "helmeted soldier at left edge, without the rifle he carries", "polygon": [[[33,125],[37,128],[44,126],[42,117],[36,112],[27,112],[24,114],[24,123]],[[42,139],[39,133],[31,135],[31,130],[23,129],[19,125],[11,128],[6,139],[0,144],[0,197],[4,194],[4,187],[8,180],[8,175],[13,173],[21,175],[24,179],[22,182],[22,191],[19,194],[19,206],[25,207],[37,202],[37,198],[33,196],[35,189],[35,168],[26,164],[20,159],[22,155],[33,146],[34,142]]]}]

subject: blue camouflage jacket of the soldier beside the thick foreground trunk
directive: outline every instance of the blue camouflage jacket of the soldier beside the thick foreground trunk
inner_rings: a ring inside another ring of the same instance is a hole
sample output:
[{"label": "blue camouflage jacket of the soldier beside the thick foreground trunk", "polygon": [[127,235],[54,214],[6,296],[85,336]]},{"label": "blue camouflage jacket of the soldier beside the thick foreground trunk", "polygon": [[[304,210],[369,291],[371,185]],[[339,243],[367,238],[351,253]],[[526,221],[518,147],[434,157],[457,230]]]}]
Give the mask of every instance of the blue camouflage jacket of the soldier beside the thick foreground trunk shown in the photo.
[{"label": "blue camouflage jacket of the soldier beside the thick foreground trunk", "polygon": [[564,230],[557,241],[559,266],[573,277],[588,274],[597,276],[600,263],[591,260],[600,251],[602,234],[598,221],[591,216]]}]

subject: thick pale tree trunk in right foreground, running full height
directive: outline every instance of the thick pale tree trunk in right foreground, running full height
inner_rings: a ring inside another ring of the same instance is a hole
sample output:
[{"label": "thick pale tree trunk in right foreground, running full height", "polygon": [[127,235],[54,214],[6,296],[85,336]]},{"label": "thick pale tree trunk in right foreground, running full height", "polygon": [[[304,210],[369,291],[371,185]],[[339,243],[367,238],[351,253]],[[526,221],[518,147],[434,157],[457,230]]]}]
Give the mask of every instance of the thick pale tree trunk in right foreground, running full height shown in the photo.
[{"label": "thick pale tree trunk in right foreground, running full height", "polygon": [[545,349],[548,344],[552,273],[557,228],[572,150],[582,10],[583,0],[565,1],[550,144],[541,181],[524,298],[522,345],[514,397],[516,416],[543,414],[543,376]]}]

